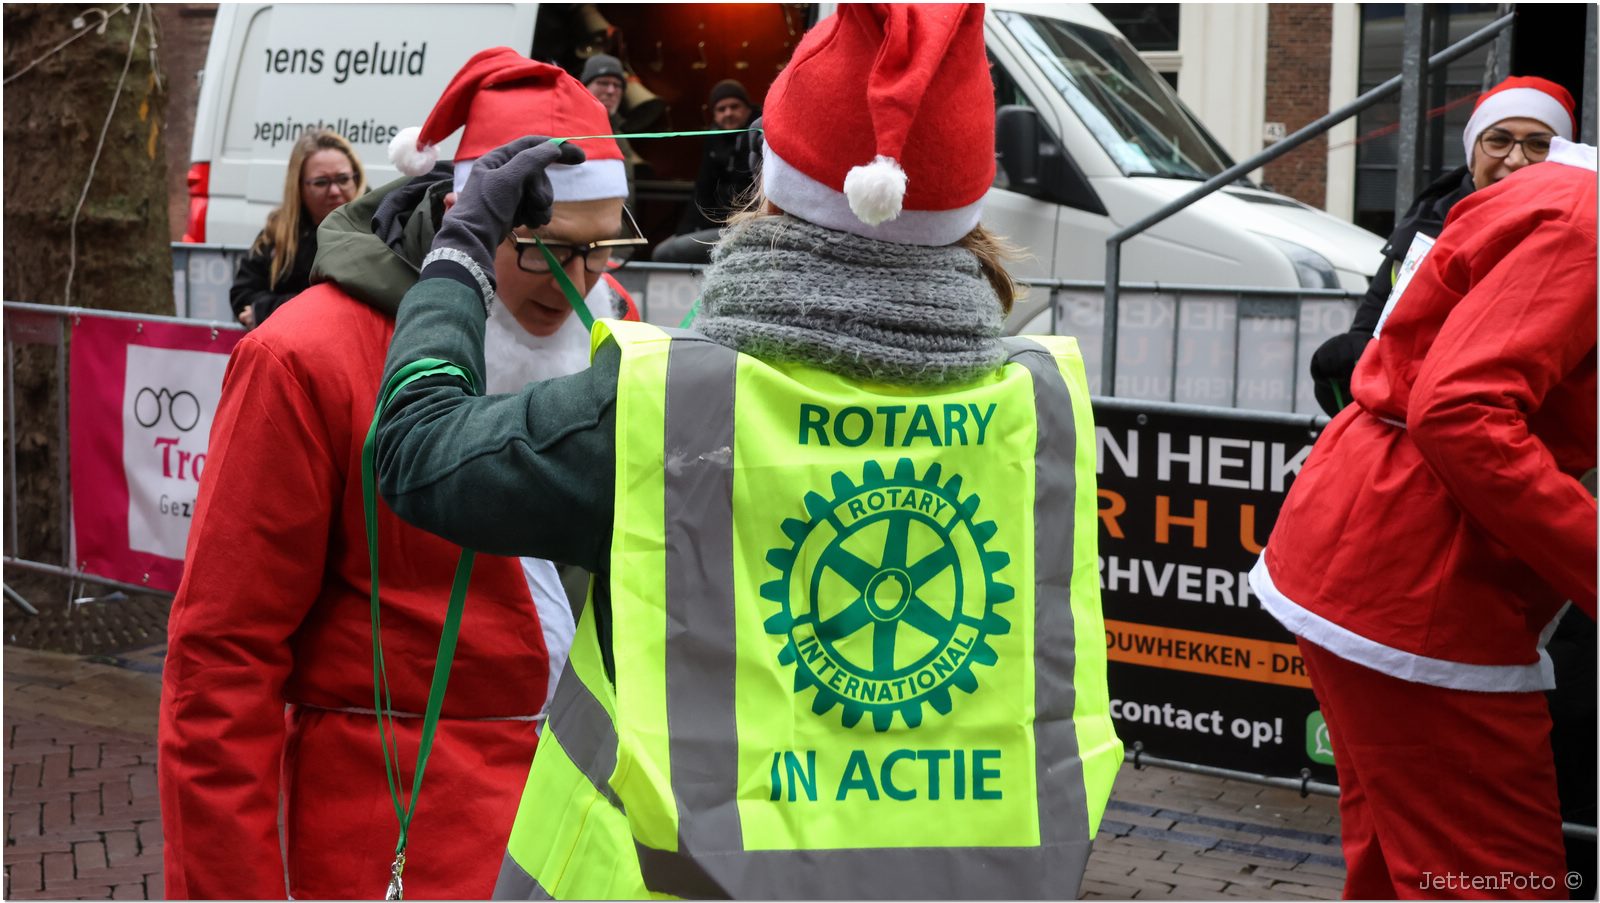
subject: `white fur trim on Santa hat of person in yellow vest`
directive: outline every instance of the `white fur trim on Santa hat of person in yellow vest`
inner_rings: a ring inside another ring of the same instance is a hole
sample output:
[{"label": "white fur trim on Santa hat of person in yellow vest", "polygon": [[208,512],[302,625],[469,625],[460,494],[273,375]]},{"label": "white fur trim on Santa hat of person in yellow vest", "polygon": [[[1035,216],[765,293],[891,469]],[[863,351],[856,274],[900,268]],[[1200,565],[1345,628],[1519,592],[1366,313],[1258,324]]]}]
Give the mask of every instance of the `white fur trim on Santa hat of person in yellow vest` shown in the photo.
[{"label": "white fur trim on Santa hat of person in yellow vest", "polygon": [[955,210],[902,210],[894,219],[869,226],[850,208],[845,192],[790,167],[770,142],[762,144],[762,191],[786,213],[806,223],[880,242],[930,248],[955,243],[978,226],[984,213],[984,199],[979,197]]}]

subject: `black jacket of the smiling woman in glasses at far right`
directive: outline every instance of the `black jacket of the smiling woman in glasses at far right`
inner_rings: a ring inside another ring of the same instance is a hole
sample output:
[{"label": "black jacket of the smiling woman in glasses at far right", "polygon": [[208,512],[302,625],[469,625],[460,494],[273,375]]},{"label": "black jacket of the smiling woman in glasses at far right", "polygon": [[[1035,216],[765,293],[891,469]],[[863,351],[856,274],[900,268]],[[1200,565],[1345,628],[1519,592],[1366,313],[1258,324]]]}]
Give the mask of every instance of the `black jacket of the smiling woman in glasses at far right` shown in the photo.
[{"label": "black jacket of the smiling woman in glasses at far right", "polygon": [[1339,413],[1350,402],[1350,373],[1355,371],[1355,363],[1366,351],[1373,330],[1378,328],[1378,317],[1382,315],[1389,290],[1394,288],[1394,271],[1405,259],[1411,240],[1416,239],[1418,232],[1437,239],[1445,229],[1450,208],[1469,194],[1472,194],[1472,170],[1467,167],[1458,167],[1422,189],[1422,194],[1400,218],[1400,224],[1389,234],[1389,242],[1384,243],[1384,263],[1366,287],[1366,296],[1362,298],[1362,306],[1355,311],[1350,331],[1330,338],[1310,355],[1310,378],[1317,403],[1330,416]]}]

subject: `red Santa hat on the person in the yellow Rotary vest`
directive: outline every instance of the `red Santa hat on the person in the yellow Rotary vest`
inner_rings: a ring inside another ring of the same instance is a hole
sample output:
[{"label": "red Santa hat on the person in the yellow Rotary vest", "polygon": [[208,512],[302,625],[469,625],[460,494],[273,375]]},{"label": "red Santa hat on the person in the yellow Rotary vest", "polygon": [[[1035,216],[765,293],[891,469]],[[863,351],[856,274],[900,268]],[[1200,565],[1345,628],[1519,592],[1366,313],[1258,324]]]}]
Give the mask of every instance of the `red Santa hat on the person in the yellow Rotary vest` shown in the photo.
[{"label": "red Santa hat on the person in the yellow Rotary vest", "polygon": [[795,48],[762,125],[762,187],[787,213],[906,245],[958,240],[995,175],[982,5],[840,3]]}]

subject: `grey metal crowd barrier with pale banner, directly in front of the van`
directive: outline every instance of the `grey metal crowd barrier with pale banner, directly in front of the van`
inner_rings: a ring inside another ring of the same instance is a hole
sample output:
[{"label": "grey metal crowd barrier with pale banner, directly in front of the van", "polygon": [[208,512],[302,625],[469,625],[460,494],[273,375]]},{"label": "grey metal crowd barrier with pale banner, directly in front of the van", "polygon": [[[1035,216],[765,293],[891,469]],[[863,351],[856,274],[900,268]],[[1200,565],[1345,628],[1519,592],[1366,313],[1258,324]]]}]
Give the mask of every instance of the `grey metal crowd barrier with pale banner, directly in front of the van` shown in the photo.
[{"label": "grey metal crowd barrier with pale banner, directly in front of the van", "polygon": [[[173,245],[174,312],[227,322],[227,290],[246,248]],[[616,279],[645,320],[675,327],[699,296],[702,267],[632,263]],[[1098,395],[1280,413],[1317,413],[1304,379],[1317,346],[1349,330],[1360,295],[1334,288],[1259,288],[1125,282],[1117,328],[1098,280],[1018,279],[1029,288],[1006,328],[1078,338]],[[1117,376],[1104,386],[1104,347],[1115,336]]]}]

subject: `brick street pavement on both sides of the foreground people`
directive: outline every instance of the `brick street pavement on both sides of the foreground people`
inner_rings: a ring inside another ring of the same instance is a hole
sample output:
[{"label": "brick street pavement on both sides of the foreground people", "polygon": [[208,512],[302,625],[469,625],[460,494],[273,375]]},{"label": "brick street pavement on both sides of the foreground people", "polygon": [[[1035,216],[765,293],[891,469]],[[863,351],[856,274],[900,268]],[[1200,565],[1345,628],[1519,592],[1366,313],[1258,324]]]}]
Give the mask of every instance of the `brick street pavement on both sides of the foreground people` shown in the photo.
[{"label": "brick street pavement on both sides of the foreground people", "polygon": [[[6,900],[160,900],[155,712],[165,647],[5,647]],[[1090,900],[1334,900],[1336,804],[1123,765],[1083,879]]]}]

